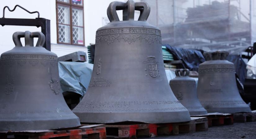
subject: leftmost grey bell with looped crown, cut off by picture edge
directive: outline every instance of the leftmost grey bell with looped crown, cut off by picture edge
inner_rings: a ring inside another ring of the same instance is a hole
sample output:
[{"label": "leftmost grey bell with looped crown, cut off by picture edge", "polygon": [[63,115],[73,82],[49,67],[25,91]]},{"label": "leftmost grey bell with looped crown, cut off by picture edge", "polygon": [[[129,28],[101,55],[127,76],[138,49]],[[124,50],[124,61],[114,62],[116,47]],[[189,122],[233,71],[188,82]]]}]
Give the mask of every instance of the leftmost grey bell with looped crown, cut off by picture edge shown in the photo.
[{"label": "leftmost grey bell with looped crown, cut off by picture edge", "polygon": [[[34,37],[38,37],[36,47]],[[79,118],[59,91],[58,58],[43,48],[43,33],[15,32],[12,38],[15,47],[0,58],[0,131],[79,126]]]}]

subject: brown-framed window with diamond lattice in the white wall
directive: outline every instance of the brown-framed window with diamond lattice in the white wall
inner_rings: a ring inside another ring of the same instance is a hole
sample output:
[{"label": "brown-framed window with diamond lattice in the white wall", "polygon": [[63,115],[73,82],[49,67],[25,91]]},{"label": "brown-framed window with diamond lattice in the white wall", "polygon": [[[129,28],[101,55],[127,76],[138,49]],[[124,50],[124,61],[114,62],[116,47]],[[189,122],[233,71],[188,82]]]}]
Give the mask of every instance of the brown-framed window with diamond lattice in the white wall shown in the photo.
[{"label": "brown-framed window with diamond lattice in the white wall", "polygon": [[56,0],[58,43],[84,45],[83,0]]}]

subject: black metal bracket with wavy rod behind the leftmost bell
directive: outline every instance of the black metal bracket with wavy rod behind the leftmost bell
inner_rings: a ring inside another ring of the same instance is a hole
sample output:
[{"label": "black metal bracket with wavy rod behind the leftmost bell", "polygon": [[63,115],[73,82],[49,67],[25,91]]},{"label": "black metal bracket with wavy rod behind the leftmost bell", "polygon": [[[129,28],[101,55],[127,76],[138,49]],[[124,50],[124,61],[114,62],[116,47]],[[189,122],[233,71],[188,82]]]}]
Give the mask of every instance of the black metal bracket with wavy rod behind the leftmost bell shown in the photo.
[{"label": "black metal bracket with wavy rod behind the leftmost bell", "polygon": [[[16,7],[20,7],[21,9],[27,11],[29,14],[38,13],[38,17],[35,19],[19,19],[19,18],[5,18],[5,8],[8,8],[9,11],[14,11]],[[3,8],[3,17],[0,18],[0,25],[14,25],[14,26],[35,26],[41,27],[41,32],[45,35],[46,42],[44,44],[44,48],[51,51],[51,27],[50,20],[45,18],[40,18],[40,14],[38,11],[30,12],[22,6],[16,5],[13,10],[10,10],[8,6]]]}]

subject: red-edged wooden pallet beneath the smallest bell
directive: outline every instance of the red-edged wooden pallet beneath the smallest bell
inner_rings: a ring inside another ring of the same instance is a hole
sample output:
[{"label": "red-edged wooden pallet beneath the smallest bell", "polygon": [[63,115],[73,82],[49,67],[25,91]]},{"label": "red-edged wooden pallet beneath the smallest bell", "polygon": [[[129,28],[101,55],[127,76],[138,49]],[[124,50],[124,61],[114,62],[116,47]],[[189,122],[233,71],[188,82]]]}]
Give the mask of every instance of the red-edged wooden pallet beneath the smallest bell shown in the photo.
[{"label": "red-edged wooden pallet beneath the smallest bell", "polygon": [[208,113],[206,115],[197,115],[197,116],[191,116],[191,117],[207,117],[208,127],[234,123],[234,116],[233,114],[229,114],[229,113],[215,112],[215,113]]}]

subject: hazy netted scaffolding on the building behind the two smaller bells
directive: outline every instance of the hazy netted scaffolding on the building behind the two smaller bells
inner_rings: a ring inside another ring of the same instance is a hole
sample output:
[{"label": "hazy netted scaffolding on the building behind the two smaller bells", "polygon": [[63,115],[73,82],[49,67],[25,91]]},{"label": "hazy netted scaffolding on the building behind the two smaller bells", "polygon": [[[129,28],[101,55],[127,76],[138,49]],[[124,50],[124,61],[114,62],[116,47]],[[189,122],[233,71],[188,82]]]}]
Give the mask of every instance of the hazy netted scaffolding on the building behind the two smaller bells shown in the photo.
[{"label": "hazy netted scaffolding on the building behind the two smaller bells", "polygon": [[148,22],[161,30],[162,44],[240,54],[256,41],[254,0],[141,1],[151,6]]}]

